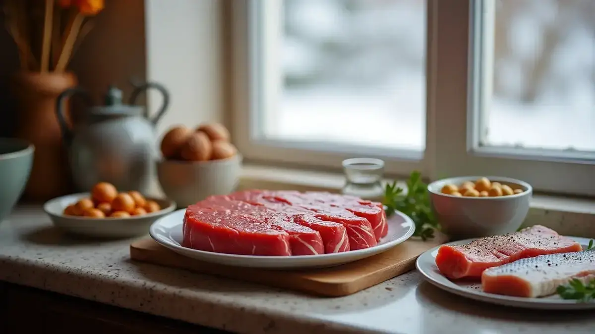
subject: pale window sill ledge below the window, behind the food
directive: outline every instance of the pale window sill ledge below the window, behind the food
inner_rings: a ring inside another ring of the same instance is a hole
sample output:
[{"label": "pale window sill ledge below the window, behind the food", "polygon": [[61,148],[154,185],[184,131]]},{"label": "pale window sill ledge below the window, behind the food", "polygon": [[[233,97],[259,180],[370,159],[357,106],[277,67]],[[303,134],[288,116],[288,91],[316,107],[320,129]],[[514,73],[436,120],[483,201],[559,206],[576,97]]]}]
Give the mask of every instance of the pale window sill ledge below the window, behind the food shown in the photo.
[{"label": "pale window sill ledge below the window, behind the food", "polygon": [[[391,180],[385,180],[389,182]],[[240,188],[270,190],[292,189],[339,192],[342,174],[246,164]],[[404,181],[397,181],[405,187]],[[540,224],[560,234],[595,237],[595,198],[573,198],[549,194],[533,194],[531,210],[524,225]]]}]

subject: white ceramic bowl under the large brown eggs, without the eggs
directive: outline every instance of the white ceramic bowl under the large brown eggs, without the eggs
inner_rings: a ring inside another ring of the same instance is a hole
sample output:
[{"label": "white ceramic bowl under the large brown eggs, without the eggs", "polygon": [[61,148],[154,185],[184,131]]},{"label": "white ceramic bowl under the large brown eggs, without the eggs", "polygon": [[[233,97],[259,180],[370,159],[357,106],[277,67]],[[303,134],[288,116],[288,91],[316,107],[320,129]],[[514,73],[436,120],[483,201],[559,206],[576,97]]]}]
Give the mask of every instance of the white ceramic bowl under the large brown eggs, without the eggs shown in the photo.
[{"label": "white ceramic bowl under the large brown eggs, without the eggs", "polygon": [[165,196],[187,207],[211,195],[234,191],[242,175],[242,156],[229,159],[187,162],[161,160],[157,177]]}]

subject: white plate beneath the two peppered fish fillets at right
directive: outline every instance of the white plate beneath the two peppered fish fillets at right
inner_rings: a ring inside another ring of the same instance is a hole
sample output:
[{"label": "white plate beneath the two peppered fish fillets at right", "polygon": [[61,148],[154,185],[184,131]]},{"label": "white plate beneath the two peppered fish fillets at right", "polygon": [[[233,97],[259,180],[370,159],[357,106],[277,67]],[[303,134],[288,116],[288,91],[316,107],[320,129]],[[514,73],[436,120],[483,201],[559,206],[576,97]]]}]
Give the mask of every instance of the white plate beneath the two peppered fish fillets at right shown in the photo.
[{"label": "white plate beneath the two peppered fish fillets at right", "polygon": [[[590,241],[590,239],[587,238],[569,238],[580,242],[580,244],[583,245],[583,249],[587,248],[588,242]],[[473,240],[476,239],[474,238],[448,242],[447,245],[468,244]],[[452,292],[453,294],[461,295],[463,297],[478,301],[484,301],[486,303],[513,307],[535,308],[540,310],[585,310],[595,308],[595,301],[589,303],[577,303],[577,301],[574,300],[563,300],[558,295],[542,298],[522,298],[487,294],[486,292],[481,291],[480,282],[450,281],[450,279],[446,278],[446,276],[440,273],[438,266],[436,266],[436,254],[438,254],[438,248],[440,248],[440,246],[434,247],[431,250],[425,251],[425,253],[421,254],[415,262],[415,267],[417,267],[417,270],[421,273],[421,275],[424,275],[428,282],[441,289]]]}]

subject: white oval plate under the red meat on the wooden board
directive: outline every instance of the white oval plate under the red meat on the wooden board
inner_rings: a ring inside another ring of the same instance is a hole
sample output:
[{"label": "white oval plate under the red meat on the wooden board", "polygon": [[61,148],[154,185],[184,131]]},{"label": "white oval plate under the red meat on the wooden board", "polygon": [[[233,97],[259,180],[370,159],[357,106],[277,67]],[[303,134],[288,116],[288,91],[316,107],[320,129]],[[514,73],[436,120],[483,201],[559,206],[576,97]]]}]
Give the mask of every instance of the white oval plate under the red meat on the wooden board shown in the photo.
[{"label": "white oval plate under the red meat on the wooden board", "polygon": [[388,219],[389,234],[382,238],[378,245],[364,250],[346,251],[335,254],[305,255],[305,256],[251,256],[223,254],[211,251],[194,250],[181,246],[182,221],[186,209],[177,210],[157,220],[149,234],[159,244],[170,248],[176,253],[193,259],[226,264],[227,266],[255,267],[268,269],[300,269],[312,267],[337,266],[369,257],[400,244],[409,239],[415,231],[415,224],[408,216],[396,212]]}]

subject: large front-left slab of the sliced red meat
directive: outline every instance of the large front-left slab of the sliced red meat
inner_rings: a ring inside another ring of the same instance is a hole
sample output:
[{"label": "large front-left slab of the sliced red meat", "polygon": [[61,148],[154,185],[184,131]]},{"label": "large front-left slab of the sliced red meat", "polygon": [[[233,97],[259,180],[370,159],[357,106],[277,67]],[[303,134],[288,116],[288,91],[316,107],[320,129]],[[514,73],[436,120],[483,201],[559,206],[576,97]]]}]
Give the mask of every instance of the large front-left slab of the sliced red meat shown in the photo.
[{"label": "large front-left slab of the sliced red meat", "polygon": [[186,215],[183,235],[183,246],[196,250],[242,255],[292,254],[287,232],[217,210],[193,210]]}]

